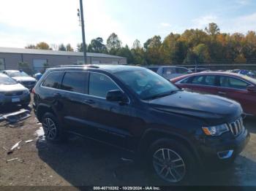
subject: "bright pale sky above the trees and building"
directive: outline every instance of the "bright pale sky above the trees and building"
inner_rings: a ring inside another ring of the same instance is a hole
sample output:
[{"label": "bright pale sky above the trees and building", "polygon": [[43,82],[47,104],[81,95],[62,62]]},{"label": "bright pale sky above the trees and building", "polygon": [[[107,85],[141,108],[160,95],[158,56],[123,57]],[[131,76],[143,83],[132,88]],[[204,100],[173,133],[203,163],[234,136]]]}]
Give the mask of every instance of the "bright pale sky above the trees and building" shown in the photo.
[{"label": "bright pale sky above the trees and building", "polygon": [[[79,0],[0,0],[0,47],[82,42]],[[115,32],[123,45],[154,35],[204,29],[217,23],[225,33],[256,31],[255,0],[83,0],[86,43]]]}]

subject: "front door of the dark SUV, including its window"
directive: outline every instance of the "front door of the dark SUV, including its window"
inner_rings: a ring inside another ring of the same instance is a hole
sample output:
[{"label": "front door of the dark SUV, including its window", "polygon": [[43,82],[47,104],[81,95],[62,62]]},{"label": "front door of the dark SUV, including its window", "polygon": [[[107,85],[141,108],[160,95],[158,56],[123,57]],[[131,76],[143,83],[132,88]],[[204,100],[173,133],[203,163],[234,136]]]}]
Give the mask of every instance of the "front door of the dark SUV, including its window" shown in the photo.
[{"label": "front door of the dark SUV, including its window", "polygon": [[[120,105],[118,102],[105,99],[109,90],[120,89],[112,79],[105,74],[91,73],[89,77],[90,103],[86,120],[90,125],[90,136],[99,141],[105,141],[119,147],[132,147],[131,141],[132,107],[129,104]],[[132,148],[127,148],[132,149]]]}]

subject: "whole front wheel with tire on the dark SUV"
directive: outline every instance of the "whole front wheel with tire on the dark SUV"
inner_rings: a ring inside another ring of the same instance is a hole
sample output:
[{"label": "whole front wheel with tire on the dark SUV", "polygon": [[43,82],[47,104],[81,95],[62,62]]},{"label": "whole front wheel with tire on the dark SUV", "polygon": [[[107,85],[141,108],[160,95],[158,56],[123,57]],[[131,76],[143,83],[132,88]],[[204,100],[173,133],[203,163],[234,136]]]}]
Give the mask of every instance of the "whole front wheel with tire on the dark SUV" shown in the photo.
[{"label": "whole front wheel with tire on the dark SUV", "polygon": [[192,179],[195,159],[183,144],[172,139],[160,139],[148,150],[151,171],[165,183],[187,184]]}]

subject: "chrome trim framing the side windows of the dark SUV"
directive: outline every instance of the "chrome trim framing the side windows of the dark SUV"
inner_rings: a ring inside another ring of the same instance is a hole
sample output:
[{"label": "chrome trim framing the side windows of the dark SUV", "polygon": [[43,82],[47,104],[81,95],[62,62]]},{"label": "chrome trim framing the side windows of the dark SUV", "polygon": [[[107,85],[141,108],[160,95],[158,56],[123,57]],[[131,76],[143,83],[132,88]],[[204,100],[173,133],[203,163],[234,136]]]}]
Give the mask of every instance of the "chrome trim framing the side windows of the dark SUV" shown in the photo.
[{"label": "chrome trim framing the side windows of the dark SUV", "polygon": [[[60,72],[68,72],[68,71],[74,72],[73,70],[50,71],[49,74],[52,74],[53,72],[56,72],[56,73],[59,72],[60,73]],[[102,73],[96,72],[96,71],[79,71],[78,70],[78,71],[75,71],[75,72],[102,74]],[[48,77],[49,74],[46,75],[45,79]],[[108,77],[108,75],[106,75],[106,74],[102,74],[102,75],[105,75],[106,77]],[[110,77],[108,77],[108,78],[119,88],[119,90],[121,90],[122,93],[125,93],[124,90],[122,90],[121,87],[118,84],[116,84],[116,82],[112,78],[110,78]],[[90,94],[87,94],[87,93],[77,93],[77,92],[72,92],[72,91],[68,91],[68,90],[61,90],[61,89],[57,89],[57,88],[53,88],[53,87],[45,87],[45,86],[42,85],[43,82],[45,82],[45,79],[43,79],[41,84],[40,84],[40,87],[42,87],[42,88],[46,88],[46,89],[50,89],[50,90],[59,90],[59,91],[62,91],[62,92],[73,93],[73,94],[78,94],[78,95],[86,95],[86,96],[90,96],[90,97],[93,97],[93,98],[100,98],[100,99],[106,100],[106,98],[102,98],[102,97],[99,97],[99,96],[96,96],[96,95],[90,95]],[[127,98],[129,100],[129,102],[127,104],[131,104],[131,100],[130,100],[128,95],[127,95]]]}]

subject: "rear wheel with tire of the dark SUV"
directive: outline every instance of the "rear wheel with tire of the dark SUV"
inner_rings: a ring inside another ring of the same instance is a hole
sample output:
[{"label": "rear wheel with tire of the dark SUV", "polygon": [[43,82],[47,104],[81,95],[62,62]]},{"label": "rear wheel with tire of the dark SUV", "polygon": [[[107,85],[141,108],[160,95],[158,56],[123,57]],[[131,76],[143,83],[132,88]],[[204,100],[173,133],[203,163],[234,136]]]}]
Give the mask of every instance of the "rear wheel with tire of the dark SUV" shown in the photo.
[{"label": "rear wheel with tire of the dark SUV", "polygon": [[67,138],[57,117],[51,113],[45,113],[42,116],[42,128],[48,141],[60,142]]}]

